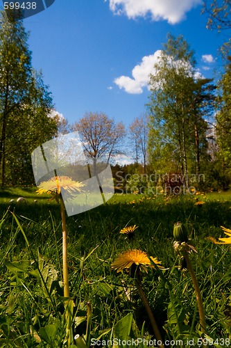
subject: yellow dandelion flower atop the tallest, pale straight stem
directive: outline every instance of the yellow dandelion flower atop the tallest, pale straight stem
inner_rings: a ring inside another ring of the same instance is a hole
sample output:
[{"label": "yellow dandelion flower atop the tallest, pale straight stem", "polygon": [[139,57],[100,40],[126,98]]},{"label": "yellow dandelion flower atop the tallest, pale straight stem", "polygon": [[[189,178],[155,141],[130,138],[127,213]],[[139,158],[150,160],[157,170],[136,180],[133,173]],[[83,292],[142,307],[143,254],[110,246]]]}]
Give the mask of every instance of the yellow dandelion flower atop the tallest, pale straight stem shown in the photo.
[{"label": "yellow dandelion flower atop the tallest, pale straight stem", "polygon": [[41,182],[39,185],[39,189],[36,191],[37,194],[42,193],[55,193],[60,194],[61,189],[68,191],[69,193],[81,192],[83,191],[81,187],[84,184],[82,182],[74,181],[70,177],[67,176],[55,176],[51,177],[50,180]]}]

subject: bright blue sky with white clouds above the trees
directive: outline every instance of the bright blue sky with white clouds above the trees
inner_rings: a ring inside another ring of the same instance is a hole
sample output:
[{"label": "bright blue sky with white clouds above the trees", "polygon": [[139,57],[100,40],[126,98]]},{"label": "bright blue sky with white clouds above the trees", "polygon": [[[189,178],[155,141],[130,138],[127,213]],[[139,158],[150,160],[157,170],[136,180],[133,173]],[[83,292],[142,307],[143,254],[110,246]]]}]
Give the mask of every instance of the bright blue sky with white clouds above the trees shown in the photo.
[{"label": "bright blue sky with white clouds above the trees", "polygon": [[145,112],[148,72],[169,32],[184,35],[200,73],[212,77],[225,34],[206,29],[201,2],[55,0],[24,19],[33,66],[42,70],[56,110],[69,122],[103,111],[129,125]]}]

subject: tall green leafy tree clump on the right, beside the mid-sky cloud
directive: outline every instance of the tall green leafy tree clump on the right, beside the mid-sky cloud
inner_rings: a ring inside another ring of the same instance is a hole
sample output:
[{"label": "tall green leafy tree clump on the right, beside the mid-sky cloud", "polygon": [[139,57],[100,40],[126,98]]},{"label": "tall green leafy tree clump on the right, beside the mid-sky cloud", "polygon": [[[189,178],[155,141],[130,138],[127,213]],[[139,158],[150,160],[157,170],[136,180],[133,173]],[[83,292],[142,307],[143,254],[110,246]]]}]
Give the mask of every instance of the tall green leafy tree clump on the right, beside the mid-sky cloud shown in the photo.
[{"label": "tall green leafy tree clump on the right, beside the mid-sky cloud", "polygon": [[212,80],[196,77],[194,52],[182,35],[169,34],[155,70],[148,104],[149,159],[154,168],[180,171],[189,186],[187,176],[198,175],[207,150],[205,117],[212,112],[214,86]]}]

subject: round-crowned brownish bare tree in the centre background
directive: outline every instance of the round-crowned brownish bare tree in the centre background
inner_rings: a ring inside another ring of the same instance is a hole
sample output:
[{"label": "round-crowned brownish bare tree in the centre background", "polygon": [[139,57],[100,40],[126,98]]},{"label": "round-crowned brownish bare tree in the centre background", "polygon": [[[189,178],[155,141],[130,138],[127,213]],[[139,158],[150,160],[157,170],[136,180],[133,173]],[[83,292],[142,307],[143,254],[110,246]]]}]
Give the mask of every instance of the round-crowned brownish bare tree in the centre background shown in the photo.
[{"label": "round-crowned brownish bare tree in the centre background", "polygon": [[80,134],[85,154],[94,163],[99,159],[108,163],[112,156],[119,154],[121,139],[126,134],[122,122],[115,123],[102,112],[86,113],[72,129]]}]

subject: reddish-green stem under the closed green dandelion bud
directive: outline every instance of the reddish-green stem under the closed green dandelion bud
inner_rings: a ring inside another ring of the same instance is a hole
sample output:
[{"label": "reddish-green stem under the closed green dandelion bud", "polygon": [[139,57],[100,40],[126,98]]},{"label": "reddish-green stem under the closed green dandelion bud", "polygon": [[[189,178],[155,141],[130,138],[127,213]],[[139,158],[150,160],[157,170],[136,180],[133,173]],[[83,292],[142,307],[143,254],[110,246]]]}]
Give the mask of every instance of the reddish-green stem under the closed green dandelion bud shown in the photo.
[{"label": "reddish-green stem under the closed green dandelion bud", "polygon": [[[188,255],[186,250],[184,250],[183,253],[184,253],[184,256],[185,256],[185,260],[187,262],[187,269],[189,270],[189,272],[191,274],[191,280],[192,280],[192,282],[194,284],[194,289],[195,289],[195,292],[196,292],[196,301],[198,303],[198,311],[199,311],[199,316],[200,316],[201,331],[203,333],[205,333],[206,332],[205,312],[204,312],[204,307],[203,307],[202,296],[201,296],[201,293],[200,293],[200,287],[198,285],[198,280],[196,278],[196,274],[195,274],[194,269],[192,267],[189,255]],[[203,346],[203,347],[206,347],[206,346]]]}]

